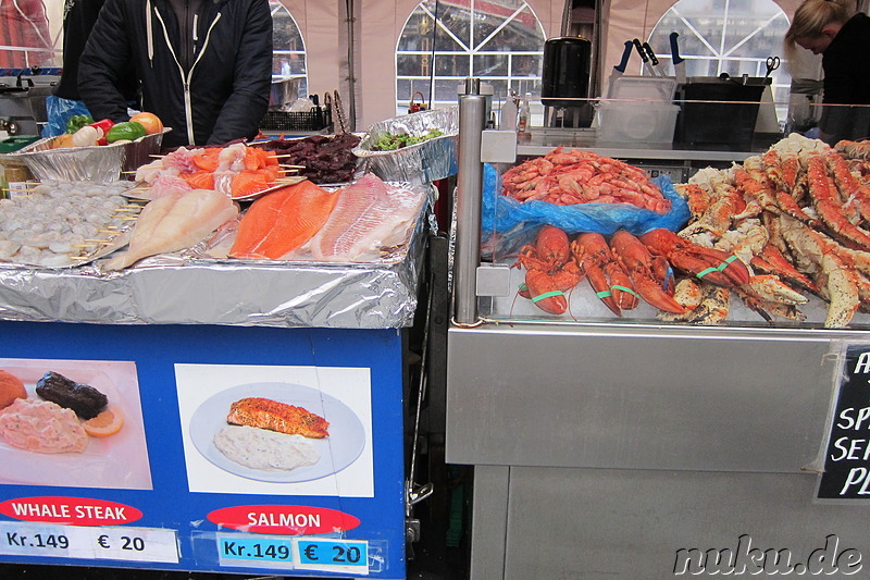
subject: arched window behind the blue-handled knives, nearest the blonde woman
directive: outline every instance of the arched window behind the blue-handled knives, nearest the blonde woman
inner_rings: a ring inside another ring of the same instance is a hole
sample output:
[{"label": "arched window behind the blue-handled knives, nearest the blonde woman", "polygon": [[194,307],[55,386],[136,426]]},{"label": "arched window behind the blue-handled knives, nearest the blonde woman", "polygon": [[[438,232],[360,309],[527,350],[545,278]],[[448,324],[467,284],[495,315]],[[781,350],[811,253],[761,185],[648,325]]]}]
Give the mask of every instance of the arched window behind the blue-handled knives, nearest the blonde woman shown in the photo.
[{"label": "arched window behind the blue-handled knives, nearest the blonde woman", "polygon": [[[669,37],[676,32],[687,76],[765,76],[768,57],[782,57],[788,18],[772,0],[680,0],[656,24],[649,45],[670,60]],[[791,76],[773,73],[773,100],[788,102]],[[778,107],[782,120],[787,106]]]}]

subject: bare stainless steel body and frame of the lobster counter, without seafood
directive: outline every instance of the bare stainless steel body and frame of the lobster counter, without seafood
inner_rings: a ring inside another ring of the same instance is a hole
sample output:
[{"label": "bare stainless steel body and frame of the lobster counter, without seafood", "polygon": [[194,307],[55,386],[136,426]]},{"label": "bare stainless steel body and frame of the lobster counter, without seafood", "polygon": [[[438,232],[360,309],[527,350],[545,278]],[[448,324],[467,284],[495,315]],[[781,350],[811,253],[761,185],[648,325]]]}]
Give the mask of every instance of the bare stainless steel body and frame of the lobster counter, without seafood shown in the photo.
[{"label": "bare stainless steel body and frame of the lobster counter, without seafood", "polygon": [[[467,143],[460,132],[463,156]],[[498,157],[483,149],[484,160]],[[685,158],[671,155],[649,157]],[[474,194],[462,166],[460,208]],[[458,219],[458,245],[475,239],[461,238]],[[457,248],[458,261],[468,256]],[[753,548],[787,550],[806,572],[834,542],[841,554],[870,554],[867,504],[815,493],[842,351],[870,342],[863,322],[548,319],[494,297],[515,285],[506,266],[487,267],[455,269],[448,333],[446,460],[474,467],[472,579],[670,578],[681,554]],[[489,296],[476,296],[484,287]],[[472,309],[460,305],[470,294]]]}]

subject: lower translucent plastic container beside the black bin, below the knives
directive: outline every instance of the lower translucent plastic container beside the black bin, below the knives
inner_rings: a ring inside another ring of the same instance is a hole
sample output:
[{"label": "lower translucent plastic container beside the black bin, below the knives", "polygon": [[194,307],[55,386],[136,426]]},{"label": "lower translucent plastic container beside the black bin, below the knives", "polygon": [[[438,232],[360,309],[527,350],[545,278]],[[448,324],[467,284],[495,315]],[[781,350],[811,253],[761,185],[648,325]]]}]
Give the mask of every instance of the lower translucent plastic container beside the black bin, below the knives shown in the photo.
[{"label": "lower translucent plastic container beside the black bin, below the knives", "polygon": [[670,145],[679,113],[680,107],[668,102],[601,102],[598,140]]}]

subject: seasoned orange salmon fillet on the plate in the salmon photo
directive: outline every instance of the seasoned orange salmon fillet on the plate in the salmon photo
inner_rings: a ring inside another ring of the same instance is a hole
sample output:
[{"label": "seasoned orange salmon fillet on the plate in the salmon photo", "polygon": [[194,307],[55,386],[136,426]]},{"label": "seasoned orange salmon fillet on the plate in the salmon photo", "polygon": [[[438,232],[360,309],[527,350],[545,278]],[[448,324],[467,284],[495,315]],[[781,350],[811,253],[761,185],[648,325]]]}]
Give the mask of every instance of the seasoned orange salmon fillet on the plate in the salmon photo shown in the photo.
[{"label": "seasoned orange salmon fillet on the plate in the salmon photo", "polygon": [[323,439],[330,435],[330,422],[302,407],[278,403],[271,398],[248,397],[229,406],[226,421],[233,424],[258,427],[288,435]]}]

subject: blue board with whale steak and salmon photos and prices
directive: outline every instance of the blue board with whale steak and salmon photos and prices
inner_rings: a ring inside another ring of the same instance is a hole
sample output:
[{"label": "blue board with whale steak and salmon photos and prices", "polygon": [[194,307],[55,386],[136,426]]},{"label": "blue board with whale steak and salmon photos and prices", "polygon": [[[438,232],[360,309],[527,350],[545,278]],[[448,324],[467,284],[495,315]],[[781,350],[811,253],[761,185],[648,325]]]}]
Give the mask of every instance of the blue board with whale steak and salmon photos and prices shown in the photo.
[{"label": "blue board with whale steak and salmon photos and prices", "polygon": [[0,562],[405,578],[398,330],[0,322]]}]

